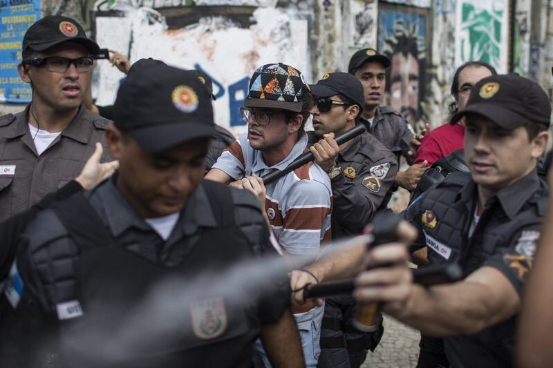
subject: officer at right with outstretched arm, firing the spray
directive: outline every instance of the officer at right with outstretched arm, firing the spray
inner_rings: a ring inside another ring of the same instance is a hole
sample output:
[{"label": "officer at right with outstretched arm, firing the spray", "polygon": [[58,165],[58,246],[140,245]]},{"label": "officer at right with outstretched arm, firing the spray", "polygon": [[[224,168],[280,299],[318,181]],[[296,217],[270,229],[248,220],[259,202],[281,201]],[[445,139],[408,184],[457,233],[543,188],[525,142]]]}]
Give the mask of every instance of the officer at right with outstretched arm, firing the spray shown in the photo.
[{"label": "officer at right with outstretched arm, firing the spray", "polygon": [[456,174],[436,184],[406,211],[418,230],[414,248],[426,246],[431,264],[460,264],[465,280],[424,289],[412,284],[406,249],[382,246],[368,254],[356,296],[381,300],[384,311],[444,338],[453,367],[512,367],[521,295],[532,269],[547,184],[536,159],[547,146],[551,107],[536,82],[518,75],[482,79],[466,117],[465,158],[471,181]]}]

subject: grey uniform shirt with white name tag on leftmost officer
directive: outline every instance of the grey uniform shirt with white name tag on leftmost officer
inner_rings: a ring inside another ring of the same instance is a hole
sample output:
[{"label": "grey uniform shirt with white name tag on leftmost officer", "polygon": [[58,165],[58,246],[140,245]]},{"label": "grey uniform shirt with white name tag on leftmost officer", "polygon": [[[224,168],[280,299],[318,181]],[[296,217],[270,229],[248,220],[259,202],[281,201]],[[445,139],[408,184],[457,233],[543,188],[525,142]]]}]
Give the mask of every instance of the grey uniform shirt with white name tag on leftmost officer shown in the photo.
[{"label": "grey uniform shirt with white name tag on leftmost officer", "polygon": [[28,209],[77,177],[96,142],[104,146],[109,120],[79,108],[75,119],[38,155],[28,127],[29,106],[0,117],[0,221]]}]

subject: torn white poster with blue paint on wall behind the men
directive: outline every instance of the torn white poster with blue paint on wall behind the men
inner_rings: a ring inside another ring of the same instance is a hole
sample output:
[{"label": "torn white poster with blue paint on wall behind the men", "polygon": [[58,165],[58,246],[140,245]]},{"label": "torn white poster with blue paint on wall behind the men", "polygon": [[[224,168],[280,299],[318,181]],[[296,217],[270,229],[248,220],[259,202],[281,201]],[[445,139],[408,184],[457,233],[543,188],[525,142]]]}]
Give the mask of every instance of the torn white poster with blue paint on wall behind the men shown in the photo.
[{"label": "torn white poster with blue paint on wall behind the men", "polygon": [[[127,10],[123,18],[110,18],[96,18],[100,46],[130,55],[131,63],[153,57],[179,68],[203,70],[214,82],[215,121],[234,134],[245,131],[240,107],[257,67],[281,61],[310,75],[307,21],[297,12],[258,8],[250,28],[240,28],[231,18],[207,17],[185,28],[168,30],[163,17],[148,8]],[[113,37],[114,28],[107,23],[117,24],[118,37]],[[99,75],[97,104],[111,104],[123,75],[106,61],[99,66]]]}]

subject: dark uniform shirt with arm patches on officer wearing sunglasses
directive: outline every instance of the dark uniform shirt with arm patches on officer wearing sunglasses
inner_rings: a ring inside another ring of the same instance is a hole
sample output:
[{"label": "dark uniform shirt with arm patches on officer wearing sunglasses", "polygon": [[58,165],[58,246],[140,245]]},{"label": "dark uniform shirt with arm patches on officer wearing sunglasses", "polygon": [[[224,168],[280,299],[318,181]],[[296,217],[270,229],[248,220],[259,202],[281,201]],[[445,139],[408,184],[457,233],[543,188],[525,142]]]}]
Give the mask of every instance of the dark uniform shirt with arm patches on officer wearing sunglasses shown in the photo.
[{"label": "dark uniform shirt with arm patches on officer wearing sunglasses", "polygon": [[332,238],[359,234],[390,200],[395,155],[370,133],[353,139],[337,157],[341,174],[332,184]]}]

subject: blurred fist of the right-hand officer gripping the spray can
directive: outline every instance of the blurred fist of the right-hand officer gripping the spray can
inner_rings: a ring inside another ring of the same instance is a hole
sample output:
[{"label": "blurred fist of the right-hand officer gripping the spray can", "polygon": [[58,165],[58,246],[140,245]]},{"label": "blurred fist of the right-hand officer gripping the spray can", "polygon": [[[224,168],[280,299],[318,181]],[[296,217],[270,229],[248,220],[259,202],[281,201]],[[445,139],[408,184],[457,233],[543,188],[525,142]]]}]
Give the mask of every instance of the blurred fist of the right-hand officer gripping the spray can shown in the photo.
[{"label": "blurred fist of the right-hand officer gripping the spray can", "polygon": [[413,273],[407,267],[407,248],[417,237],[417,230],[408,222],[397,226],[399,242],[369,249],[364,271],[355,280],[354,296],[362,302],[384,302],[384,311],[395,315],[409,303]]}]

